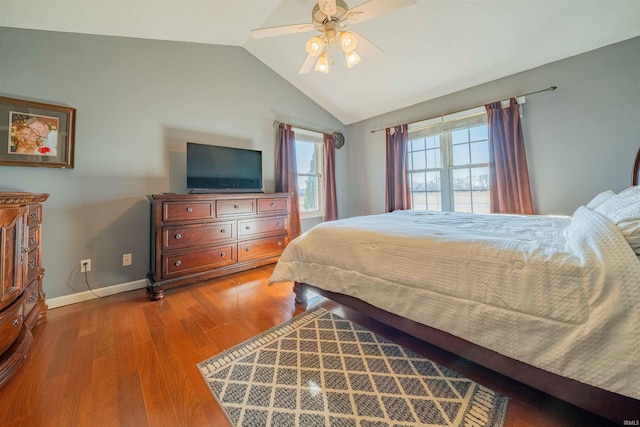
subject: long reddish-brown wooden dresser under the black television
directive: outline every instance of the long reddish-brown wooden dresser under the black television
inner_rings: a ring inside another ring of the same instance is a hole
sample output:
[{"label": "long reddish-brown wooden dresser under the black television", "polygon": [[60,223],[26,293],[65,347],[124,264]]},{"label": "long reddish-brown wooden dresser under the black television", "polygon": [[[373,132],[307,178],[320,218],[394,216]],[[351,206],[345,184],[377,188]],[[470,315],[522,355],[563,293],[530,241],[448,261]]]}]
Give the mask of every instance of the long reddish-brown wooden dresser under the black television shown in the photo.
[{"label": "long reddish-brown wooden dresser under the black television", "polygon": [[289,243],[290,193],[154,194],[152,300],[165,289],[272,264]]}]

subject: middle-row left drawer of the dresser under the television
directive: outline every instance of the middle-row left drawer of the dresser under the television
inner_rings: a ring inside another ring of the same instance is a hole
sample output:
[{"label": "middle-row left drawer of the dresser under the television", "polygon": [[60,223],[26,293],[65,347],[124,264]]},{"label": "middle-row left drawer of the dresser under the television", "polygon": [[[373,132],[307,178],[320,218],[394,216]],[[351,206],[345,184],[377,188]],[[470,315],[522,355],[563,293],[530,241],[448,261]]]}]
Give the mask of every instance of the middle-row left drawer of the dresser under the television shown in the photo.
[{"label": "middle-row left drawer of the dresser under the television", "polygon": [[162,250],[211,245],[235,238],[235,221],[165,227]]}]

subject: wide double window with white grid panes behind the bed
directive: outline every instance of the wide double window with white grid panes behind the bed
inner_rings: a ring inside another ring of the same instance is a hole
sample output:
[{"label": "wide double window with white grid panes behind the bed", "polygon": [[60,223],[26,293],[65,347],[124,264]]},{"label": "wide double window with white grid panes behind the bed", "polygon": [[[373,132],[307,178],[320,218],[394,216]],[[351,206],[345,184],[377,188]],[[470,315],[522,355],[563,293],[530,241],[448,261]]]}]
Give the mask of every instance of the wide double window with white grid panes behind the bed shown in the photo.
[{"label": "wide double window with white grid panes behind the bed", "polygon": [[413,209],[489,212],[487,132],[484,107],[409,126]]}]

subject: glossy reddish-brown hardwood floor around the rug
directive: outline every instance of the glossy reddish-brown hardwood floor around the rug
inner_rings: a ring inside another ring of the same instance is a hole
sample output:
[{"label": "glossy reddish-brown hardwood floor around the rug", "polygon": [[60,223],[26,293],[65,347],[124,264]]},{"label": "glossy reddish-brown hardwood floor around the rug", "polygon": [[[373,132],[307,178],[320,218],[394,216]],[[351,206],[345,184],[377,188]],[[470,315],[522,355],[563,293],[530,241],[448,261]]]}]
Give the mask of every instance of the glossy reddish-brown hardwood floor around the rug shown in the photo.
[{"label": "glossy reddish-brown hardwood floor around the rug", "polygon": [[[0,389],[3,426],[227,426],[196,364],[301,313],[273,266],[175,290],[145,290],[49,310],[20,371]],[[45,283],[46,286],[46,283]],[[606,426],[605,420],[386,328],[321,305],[511,398],[514,426]]]}]

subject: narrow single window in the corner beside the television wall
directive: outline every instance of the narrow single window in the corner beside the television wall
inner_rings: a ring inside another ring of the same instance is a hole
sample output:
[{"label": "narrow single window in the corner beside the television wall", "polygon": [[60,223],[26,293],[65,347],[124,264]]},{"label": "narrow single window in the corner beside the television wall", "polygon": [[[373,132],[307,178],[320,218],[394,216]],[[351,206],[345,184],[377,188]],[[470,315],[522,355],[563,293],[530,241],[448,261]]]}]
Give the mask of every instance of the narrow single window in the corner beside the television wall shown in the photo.
[{"label": "narrow single window in the corner beside the television wall", "polygon": [[324,135],[293,128],[296,135],[296,165],[298,168],[298,202],[300,217],[324,214],[323,156]]}]

